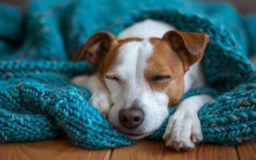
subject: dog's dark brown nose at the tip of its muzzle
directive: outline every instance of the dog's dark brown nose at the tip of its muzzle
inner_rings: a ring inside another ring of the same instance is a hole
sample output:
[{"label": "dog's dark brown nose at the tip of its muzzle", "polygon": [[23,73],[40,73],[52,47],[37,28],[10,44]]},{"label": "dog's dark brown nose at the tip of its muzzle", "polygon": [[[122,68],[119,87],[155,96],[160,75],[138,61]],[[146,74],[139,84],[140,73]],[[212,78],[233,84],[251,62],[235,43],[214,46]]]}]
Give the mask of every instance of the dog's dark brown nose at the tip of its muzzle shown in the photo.
[{"label": "dog's dark brown nose at the tip of its muzzle", "polygon": [[134,129],[143,122],[144,112],[139,107],[120,110],[119,122],[127,129]]}]

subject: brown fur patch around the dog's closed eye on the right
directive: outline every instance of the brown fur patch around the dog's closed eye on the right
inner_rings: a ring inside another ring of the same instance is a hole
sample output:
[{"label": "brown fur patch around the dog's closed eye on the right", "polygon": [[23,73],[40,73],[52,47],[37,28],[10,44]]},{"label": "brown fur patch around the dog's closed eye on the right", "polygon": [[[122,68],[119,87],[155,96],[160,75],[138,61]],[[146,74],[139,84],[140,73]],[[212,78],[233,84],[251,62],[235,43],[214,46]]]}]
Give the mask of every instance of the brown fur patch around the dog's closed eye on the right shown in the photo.
[{"label": "brown fur patch around the dog's closed eye on the right", "polygon": [[[144,73],[148,84],[153,90],[165,91],[169,97],[169,106],[181,101],[184,94],[184,70],[181,58],[175,53],[169,43],[159,38],[151,38],[154,46],[152,56],[148,59],[148,67]],[[156,75],[170,75],[171,79],[152,81]]]}]

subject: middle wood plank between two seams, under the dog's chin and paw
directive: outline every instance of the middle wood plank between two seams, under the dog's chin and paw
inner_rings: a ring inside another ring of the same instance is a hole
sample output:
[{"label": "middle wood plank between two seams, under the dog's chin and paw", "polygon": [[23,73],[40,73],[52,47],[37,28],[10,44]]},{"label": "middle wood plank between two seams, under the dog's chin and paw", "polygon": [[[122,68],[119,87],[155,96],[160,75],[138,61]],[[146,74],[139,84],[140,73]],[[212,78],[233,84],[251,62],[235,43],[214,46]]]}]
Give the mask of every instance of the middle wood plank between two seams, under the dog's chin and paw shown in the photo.
[{"label": "middle wood plank between two seams, under the dog's chin and paw", "polygon": [[163,142],[140,142],[135,146],[126,146],[113,150],[111,159],[238,160],[238,153],[234,146],[217,146],[204,144],[197,146],[195,150],[177,152],[166,148]]}]

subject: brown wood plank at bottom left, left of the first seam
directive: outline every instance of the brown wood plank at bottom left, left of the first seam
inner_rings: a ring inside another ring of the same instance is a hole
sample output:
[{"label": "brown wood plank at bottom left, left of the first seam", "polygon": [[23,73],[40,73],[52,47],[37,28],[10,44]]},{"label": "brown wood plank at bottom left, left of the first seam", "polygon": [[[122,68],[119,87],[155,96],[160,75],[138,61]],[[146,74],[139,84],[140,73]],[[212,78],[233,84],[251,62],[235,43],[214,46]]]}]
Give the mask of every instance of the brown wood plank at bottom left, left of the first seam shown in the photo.
[{"label": "brown wood plank at bottom left, left of the first seam", "polygon": [[66,138],[42,142],[7,143],[0,145],[0,159],[95,159],[107,160],[112,150],[84,150]]}]

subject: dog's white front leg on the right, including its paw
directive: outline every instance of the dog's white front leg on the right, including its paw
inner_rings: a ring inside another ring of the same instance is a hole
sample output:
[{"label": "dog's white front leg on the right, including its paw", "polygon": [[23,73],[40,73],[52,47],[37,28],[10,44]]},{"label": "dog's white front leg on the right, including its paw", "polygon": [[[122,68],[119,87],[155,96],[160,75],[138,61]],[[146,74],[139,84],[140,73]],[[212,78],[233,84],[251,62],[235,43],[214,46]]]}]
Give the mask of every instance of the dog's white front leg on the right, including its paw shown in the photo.
[{"label": "dog's white front leg on the right, including its paw", "polygon": [[198,110],[205,102],[213,100],[208,95],[202,94],[186,98],[175,113],[169,118],[163,139],[165,146],[177,151],[191,150],[201,142],[201,122],[197,116]]}]

